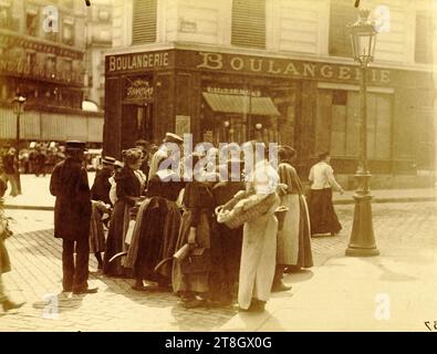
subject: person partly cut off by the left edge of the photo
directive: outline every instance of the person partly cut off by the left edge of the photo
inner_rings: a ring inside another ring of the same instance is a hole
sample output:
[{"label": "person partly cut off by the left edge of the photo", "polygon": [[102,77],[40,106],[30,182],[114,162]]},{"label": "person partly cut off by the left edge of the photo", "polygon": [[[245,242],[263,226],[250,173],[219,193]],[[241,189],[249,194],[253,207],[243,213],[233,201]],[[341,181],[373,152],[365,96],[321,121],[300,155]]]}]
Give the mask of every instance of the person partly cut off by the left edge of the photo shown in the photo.
[{"label": "person partly cut off by the left edge of the photo", "polygon": [[[1,204],[1,200],[0,200]],[[3,311],[14,310],[21,308],[24,303],[14,303],[10,301],[6,294],[6,289],[1,275],[11,271],[11,263],[9,261],[8,250],[4,241],[9,238],[12,232],[9,229],[8,218],[6,217],[2,205],[0,205],[0,303]]]}]

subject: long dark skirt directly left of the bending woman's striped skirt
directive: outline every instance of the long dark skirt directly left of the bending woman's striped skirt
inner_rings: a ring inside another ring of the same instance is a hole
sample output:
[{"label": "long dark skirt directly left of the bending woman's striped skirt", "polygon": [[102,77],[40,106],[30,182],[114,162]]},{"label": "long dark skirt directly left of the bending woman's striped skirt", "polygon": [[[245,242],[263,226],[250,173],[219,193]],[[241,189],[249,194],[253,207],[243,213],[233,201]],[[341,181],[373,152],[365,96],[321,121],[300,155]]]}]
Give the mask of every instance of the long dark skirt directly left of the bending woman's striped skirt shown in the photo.
[{"label": "long dark skirt directly left of the bending woman's striped skirt", "polygon": [[126,271],[122,263],[122,258],[110,263],[110,259],[116,253],[126,250],[125,237],[128,227],[128,206],[125,201],[118,200],[114,205],[111,218],[110,230],[107,232],[105,256],[103,259],[103,272],[112,277],[124,277]]}]

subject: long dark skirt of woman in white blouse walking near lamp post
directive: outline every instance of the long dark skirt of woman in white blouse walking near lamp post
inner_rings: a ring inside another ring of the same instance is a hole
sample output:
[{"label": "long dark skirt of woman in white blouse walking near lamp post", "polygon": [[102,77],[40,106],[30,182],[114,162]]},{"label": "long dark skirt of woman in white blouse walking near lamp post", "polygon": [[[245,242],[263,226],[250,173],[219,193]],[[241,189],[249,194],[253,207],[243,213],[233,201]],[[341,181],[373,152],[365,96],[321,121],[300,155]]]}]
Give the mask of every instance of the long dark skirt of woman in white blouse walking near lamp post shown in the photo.
[{"label": "long dark skirt of woman in white blouse walking near lamp post", "polygon": [[342,229],[332,205],[332,189],[311,189],[309,196],[311,235],[339,232]]}]

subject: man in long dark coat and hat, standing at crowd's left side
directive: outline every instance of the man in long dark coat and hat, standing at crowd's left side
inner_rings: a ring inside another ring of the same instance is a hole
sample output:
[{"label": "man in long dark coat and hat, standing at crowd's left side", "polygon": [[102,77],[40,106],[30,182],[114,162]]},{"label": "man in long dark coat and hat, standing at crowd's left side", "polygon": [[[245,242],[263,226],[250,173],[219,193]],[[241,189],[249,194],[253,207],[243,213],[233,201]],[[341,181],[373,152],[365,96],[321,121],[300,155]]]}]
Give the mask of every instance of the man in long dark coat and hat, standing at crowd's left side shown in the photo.
[{"label": "man in long dark coat and hat, standing at crowd's left side", "polygon": [[82,164],[85,143],[66,142],[66,158],[54,167],[50,180],[50,192],[56,197],[54,237],[62,239],[63,291],[74,294],[97,291],[87,284],[91,192]]}]

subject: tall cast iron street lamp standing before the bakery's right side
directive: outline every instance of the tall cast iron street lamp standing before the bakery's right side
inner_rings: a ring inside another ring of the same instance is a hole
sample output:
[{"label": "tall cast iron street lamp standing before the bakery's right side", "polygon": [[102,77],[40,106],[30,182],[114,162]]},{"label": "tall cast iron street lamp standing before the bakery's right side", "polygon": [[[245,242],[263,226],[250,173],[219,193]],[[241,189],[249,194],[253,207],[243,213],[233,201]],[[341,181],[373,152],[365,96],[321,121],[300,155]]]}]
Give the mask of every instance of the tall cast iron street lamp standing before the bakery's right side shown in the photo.
[{"label": "tall cast iron street lamp standing before the bakery's right side", "polygon": [[360,163],[355,177],[358,188],[355,191],[355,211],[352,233],[346,256],[377,256],[372,221],[372,194],[368,188],[372,178],[367,167],[367,66],[373,61],[376,43],[374,23],[368,20],[368,10],[360,10],[358,20],[350,27],[354,60],[361,67],[360,87]]}]

